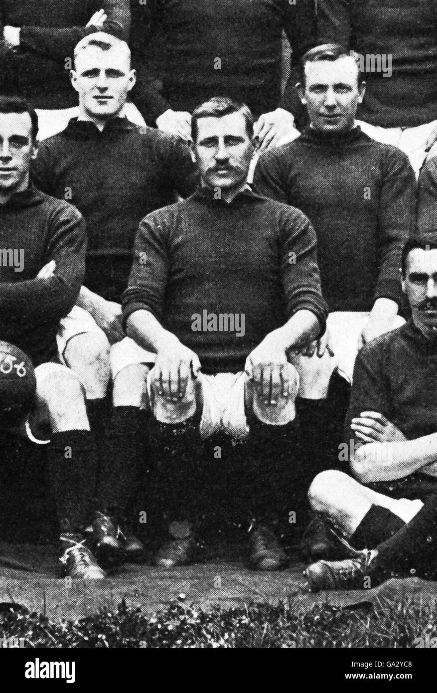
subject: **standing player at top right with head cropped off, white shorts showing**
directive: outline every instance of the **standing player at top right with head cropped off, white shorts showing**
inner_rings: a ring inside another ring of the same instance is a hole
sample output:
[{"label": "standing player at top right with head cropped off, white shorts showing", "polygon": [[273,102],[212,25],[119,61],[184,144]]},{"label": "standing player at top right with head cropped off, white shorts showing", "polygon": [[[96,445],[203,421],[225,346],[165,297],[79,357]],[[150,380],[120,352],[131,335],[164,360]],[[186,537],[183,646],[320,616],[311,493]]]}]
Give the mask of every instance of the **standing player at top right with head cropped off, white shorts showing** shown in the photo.
[{"label": "standing player at top right with head cropped off, white shorts showing", "polygon": [[319,44],[338,42],[359,56],[363,132],[402,149],[418,177],[437,135],[434,0],[318,0],[317,29]]}]

